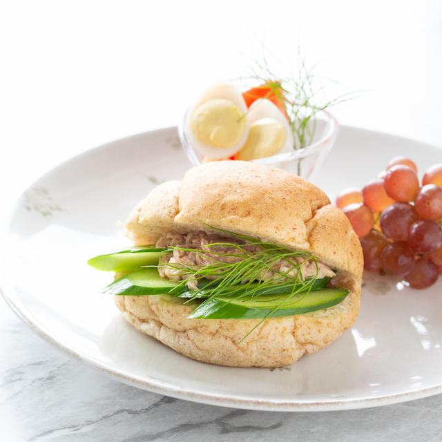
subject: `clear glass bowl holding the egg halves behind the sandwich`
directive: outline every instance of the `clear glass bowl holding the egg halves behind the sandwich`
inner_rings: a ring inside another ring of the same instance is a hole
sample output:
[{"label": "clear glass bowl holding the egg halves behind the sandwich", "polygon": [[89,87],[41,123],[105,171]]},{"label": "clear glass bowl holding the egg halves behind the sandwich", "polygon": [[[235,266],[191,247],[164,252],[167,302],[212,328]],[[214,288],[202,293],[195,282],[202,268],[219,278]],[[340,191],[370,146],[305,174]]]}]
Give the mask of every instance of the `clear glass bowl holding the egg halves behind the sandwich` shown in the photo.
[{"label": "clear glass bowl holding the egg halves behind the sandwich", "polygon": [[[198,166],[202,164],[202,155],[195,151],[189,142],[189,138],[186,137],[184,131],[186,116],[187,113],[184,115],[182,124],[178,126],[178,135],[180,136],[181,144],[190,162],[194,166]],[[302,178],[311,178],[319,169],[320,165],[323,164],[339,132],[339,124],[336,118],[327,111],[318,111],[316,113],[315,121],[309,122],[309,130],[312,130],[314,124],[316,125],[314,136],[312,137],[311,143],[305,146],[305,148],[277,153],[271,157],[252,161],[278,167],[279,169],[285,169]]]}]

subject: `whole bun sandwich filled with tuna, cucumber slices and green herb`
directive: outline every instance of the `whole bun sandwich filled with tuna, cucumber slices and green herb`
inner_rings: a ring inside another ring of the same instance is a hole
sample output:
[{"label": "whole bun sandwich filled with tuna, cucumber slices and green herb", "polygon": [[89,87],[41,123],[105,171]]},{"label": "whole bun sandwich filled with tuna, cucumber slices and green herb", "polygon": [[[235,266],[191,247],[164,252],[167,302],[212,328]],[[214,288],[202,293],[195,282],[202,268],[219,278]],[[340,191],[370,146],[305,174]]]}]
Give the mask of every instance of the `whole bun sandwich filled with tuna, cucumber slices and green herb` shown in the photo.
[{"label": "whole bun sandwich filled with tuna, cucumber slices and green herb", "polygon": [[176,352],[280,367],[358,316],[363,255],[313,184],[262,164],[209,162],[164,182],[124,224],[134,247],[98,256],[123,317]]}]

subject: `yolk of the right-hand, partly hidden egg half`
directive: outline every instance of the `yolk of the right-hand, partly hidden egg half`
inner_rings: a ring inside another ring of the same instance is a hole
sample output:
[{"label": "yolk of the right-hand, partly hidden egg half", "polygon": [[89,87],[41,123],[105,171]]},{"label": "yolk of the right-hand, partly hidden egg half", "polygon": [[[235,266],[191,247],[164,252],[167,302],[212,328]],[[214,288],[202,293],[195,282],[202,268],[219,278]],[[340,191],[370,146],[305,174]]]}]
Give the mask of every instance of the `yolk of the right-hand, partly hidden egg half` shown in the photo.
[{"label": "yolk of the right-hand, partly hidden egg half", "polygon": [[250,126],[249,137],[238,152],[238,160],[257,160],[278,153],[285,143],[285,128],[273,118],[262,118]]}]

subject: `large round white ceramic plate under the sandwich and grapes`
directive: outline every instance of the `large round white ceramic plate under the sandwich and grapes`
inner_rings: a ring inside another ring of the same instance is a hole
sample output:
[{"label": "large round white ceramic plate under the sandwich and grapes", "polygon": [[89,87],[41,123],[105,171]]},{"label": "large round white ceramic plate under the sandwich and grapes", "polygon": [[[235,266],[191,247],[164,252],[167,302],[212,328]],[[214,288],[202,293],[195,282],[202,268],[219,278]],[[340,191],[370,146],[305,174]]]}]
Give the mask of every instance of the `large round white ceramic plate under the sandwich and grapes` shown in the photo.
[{"label": "large round white ceramic plate under the sandwich and grapes", "polygon": [[[41,336],[119,381],[214,405],[256,410],[374,407],[442,392],[442,278],[430,289],[366,277],[361,315],[317,354],[280,369],[191,361],[128,325],[97,290],[111,274],[86,260],[128,240],[117,221],[189,163],[169,128],[106,144],[61,164],[17,202],[1,247],[0,284],[9,305]],[[362,185],[394,155],[421,171],[442,150],[342,128],[316,184],[329,195]]]}]

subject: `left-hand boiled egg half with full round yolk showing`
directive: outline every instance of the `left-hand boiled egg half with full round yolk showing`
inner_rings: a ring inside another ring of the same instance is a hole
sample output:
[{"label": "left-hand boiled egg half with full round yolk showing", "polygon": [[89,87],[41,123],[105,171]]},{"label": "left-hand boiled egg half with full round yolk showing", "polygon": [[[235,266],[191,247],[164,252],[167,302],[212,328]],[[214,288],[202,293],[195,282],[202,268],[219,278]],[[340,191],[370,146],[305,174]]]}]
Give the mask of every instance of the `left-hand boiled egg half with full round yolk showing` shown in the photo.
[{"label": "left-hand boiled egg half with full round yolk showing", "polygon": [[212,160],[235,155],[249,135],[247,105],[231,84],[216,84],[189,110],[186,136],[195,151]]}]

